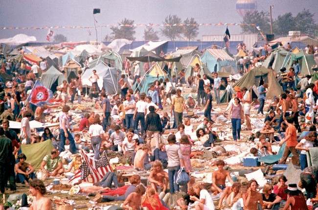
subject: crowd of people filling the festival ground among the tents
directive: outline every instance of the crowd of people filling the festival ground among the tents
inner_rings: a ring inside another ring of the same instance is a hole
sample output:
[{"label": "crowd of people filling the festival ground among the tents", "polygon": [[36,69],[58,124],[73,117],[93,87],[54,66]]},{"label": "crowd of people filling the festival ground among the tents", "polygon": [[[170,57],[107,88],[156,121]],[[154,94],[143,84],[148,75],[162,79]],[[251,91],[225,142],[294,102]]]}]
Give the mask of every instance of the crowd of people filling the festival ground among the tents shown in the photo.
[{"label": "crowd of people filling the festival ground among the tents", "polygon": [[[245,51],[246,46],[239,45],[237,49]],[[265,45],[265,54],[261,53],[254,59],[240,58],[240,72],[247,73],[251,68],[257,67],[272,50],[272,47]],[[89,58],[83,63],[84,71],[88,64]],[[51,140],[54,149],[41,163],[41,171],[45,172],[46,176],[55,177],[78,170],[83,163],[79,155],[80,150],[92,152],[95,160],[101,158],[103,151],[120,153],[127,160],[127,164],[136,170],[151,170],[148,186],[140,184],[139,175],[130,177],[131,185],[123,186],[123,183],[118,182],[118,174],[108,172],[102,180],[94,183],[94,186],[81,188],[82,192],[95,195],[94,201],[123,201],[123,209],[137,210],[146,207],[148,210],[165,210],[168,209],[169,197],[178,191],[185,193],[176,205],[182,210],[214,210],[224,207],[278,210],[279,206],[284,210],[290,207],[295,210],[307,209],[302,192],[295,184],[287,186],[284,176],[280,176],[275,184],[268,183],[263,186],[262,193],[257,190],[258,183],[255,180],[245,184],[233,182],[229,172],[224,169],[226,164],[222,160],[215,162],[217,170],[213,171],[212,186],[206,187],[191,176],[194,169],[190,159],[195,156],[192,150],[195,145],[192,134],[194,133],[201,145],[208,149],[213,148],[219,140],[211,111],[212,104],[220,104],[220,90],[227,83],[217,72],[212,73],[212,77],[206,74],[201,76],[202,67],[196,64],[193,75],[185,78],[184,70],[177,75],[171,75],[171,65],[167,64],[165,69],[168,77],[154,81],[146,93],[140,93],[138,89],[133,90],[131,85],[141,81],[139,63],[130,64],[125,61],[127,72],[122,74],[118,81],[120,94],[110,95],[107,90],[99,87],[97,81],[100,78],[96,70],[93,70],[89,78],[91,88],[86,92],[89,97],[85,97],[82,72],[79,72],[75,78],[63,81],[51,99],[51,103],[61,107],[61,112],[53,117],[55,122],[59,123],[59,129],[45,127],[36,128],[32,132],[31,120],[53,122],[53,118],[48,119],[48,116],[51,110],[58,107],[52,104],[36,106],[28,102],[27,98],[32,94],[35,81],[47,70],[47,62],[43,60],[39,66],[34,64],[31,70],[27,70],[25,65],[16,60],[3,60],[1,65],[1,72],[14,77],[1,83],[0,87],[0,191],[5,193],[8,181],[11,191],[17,189],[16,183],[29,186],[31,194],[35,196],[31,204],[32,209],[50,209],[51,202],[44,196],[44,184],[36,179],[35,169],[27,163],[28,157],[22,153],[21,144],[47,140]],[[149,64],[143,68],[149,69]],[[285,145],[279,163],[286,163],[292,153],[291,162],[294,165],[300,166],[304,173],[307,173],[307,170],[311,175],[317,176],[317,169],[307,165],[306,152],[317,146],[315,113],[318,109],[318,82],[311,83],[311,75],[304,75],[299,80],[297,62],[286,71],[282,68],[277,74],[283,93],[274,98],[267,112],[264,112],[264,108],[269,102],[266,98],[268,84],[261,83],[257,87],[257,100],[252,94],[255,90],[250,87],[234,87],[236,93],[228,104],[228,113],[225,112],[232,126],[232,139],[243,140],[241,131],[244,123],[246,130],[252,130],[250,113],[252,106],[258,104],[257,114],[259,117],[265,117],[264,127],[255,134],[258,135],[259,141],[255,148],[250,149],[250,155],[273,155],[273,144]],[[182,87],[195,87],[193,90],[197,95],[191,93],[186,97]],[[79,124],[75,125],[72,107],[87,102],[93,102],[94,109],[101,111],[82,113]],[[204,112],[203,121],[199,125],[194,125],[192,118],[188,117],[194,110]],[[183,116],[184,112],[188,113],[187,117]],[[299,123],[299,117],[304,118],[305,122]],[[21,122],[21,129],[9,128],[10,120]],[[162,138],[165,131],[170,132],[167,133],[166,142]],[[89,135],[90,142],[83,141],[86,134]],[[69,152],[75,155],[69,167],[63,164],[60,157],[66,150],[66,145]],[[179,182],[182,172],[188,177],[186,182]],[[315,187],[316,180],[311,181]],[[308,177],[301,178],[298,187],[306,189],[306,197],[314,204],[318,202],[316,188],[309,189]],[[114,196],[114,190],[119,189],[121,195]],[[214,206],[210,193],[222,193],[217,207]]]}]

